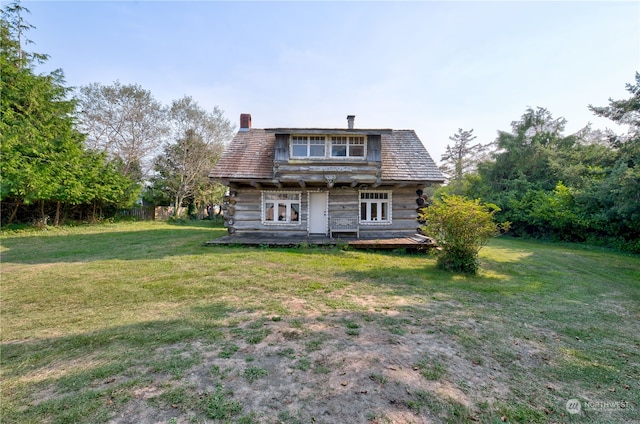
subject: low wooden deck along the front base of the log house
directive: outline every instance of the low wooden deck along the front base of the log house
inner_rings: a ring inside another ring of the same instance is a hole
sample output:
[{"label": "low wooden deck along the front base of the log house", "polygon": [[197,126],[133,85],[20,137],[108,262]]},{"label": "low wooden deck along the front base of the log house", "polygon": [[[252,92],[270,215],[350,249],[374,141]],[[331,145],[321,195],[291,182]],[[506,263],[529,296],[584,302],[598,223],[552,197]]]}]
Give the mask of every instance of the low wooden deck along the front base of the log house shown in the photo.
[{"label": "low wooden deck along the front base of the log house", "polygon": [[206,242],[207,246],[253,246],[253,247],[297,247],[300,245],[336,246],[347,243],[354,249],[362,250],[394,250],[407,249],[411,251],[427,251],[436,249],[437,245],[429,237],[414,234],[407,237],[385,239],[357,239],[355,237],[330,238],[325,236],[224,236]]}]

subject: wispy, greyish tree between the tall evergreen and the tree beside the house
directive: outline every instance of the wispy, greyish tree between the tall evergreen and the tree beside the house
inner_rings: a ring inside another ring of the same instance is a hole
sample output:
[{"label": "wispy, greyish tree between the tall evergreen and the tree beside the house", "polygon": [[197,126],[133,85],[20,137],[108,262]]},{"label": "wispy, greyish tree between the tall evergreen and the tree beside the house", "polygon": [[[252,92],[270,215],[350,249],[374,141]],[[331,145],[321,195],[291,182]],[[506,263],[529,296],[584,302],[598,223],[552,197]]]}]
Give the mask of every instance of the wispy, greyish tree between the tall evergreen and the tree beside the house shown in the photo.
[{"label": "wispy, greyish tree between the tall evergreen and the tree beside the house", "polygon": [[78,101],[87,148],[105,152],[123,175],[142,181],[169,130],[163,105],[141,86],[119,81],[83,86]]}]

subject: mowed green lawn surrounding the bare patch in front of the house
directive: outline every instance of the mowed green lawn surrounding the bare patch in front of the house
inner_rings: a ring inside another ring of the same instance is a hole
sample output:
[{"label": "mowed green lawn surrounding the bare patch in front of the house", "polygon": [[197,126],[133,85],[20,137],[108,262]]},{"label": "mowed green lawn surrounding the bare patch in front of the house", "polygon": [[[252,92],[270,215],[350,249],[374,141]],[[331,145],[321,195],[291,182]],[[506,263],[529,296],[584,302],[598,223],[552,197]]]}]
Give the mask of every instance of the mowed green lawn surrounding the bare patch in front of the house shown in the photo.
[{"label": "mowed green lawn surrounding the bare patch in front of the house", "polygon": [[[177,410],[185,422],[271,422],[225,388],[274,378],[260,356],[245,355],[237,371],[210,366],[208,391],[188,376],[209,364],[203,352],[229,360],[271,340],[270,325],[286,325],[281,340],[294,343],[278,360],[330,375],[333,365],[313,355],[333,336],[314,333],[312,322],[334,323],[348,343],[371,329],[390,345],[435,336],[413,369],[466,401],[407,389],[394,405],[429,421],[640,419],[638,256],[500,238],[468,276],[403,252],[204,246],[224,232],[210,222],[4,232],[1,421],[117,421],[144,402],[165,411],[156,418]],[[403,384],[383,371],[367,379],[385,390]],[[568,413],[570,399],[582,403],[579,414]],[[392,421],[385,409],[365,412],[353,422]],[[278,417],[311,419],[299,410]]]}]

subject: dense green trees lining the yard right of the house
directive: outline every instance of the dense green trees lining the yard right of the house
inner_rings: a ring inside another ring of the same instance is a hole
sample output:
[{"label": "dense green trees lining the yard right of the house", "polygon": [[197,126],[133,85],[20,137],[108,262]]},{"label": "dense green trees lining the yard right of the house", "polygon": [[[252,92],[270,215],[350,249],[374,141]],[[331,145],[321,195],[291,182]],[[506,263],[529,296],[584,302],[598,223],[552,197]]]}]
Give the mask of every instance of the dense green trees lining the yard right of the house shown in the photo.
[{"label": "dense green trees lining the yard right of the house", "polygon": [[437,192],[496,205],[510,234],[589,242],[640,253],[640,73],[630,97],[590,105],[624,133],[589,126],[566,134],[564,118],[528,108],[486,145],[458,130],[442,155],[449,178]]}]

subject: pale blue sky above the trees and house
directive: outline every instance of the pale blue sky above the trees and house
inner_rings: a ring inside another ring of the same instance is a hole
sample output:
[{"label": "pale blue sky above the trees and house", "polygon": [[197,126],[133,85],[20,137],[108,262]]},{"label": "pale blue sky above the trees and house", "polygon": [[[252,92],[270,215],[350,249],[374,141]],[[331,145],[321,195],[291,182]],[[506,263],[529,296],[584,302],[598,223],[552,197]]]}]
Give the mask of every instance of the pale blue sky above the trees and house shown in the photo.
[{"label": "pale blue sky above the trees and house", "polygon": [[[3,2],[5,3],[5,2]],[[22,1],[29,49],[67,85],[139,84],[253,126],[414,129],[440,160],[458,128],[488,143],[527,107],[568,120],[629,97],[640,2]]]}]

